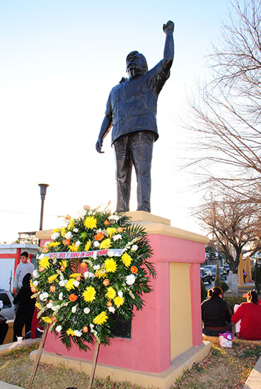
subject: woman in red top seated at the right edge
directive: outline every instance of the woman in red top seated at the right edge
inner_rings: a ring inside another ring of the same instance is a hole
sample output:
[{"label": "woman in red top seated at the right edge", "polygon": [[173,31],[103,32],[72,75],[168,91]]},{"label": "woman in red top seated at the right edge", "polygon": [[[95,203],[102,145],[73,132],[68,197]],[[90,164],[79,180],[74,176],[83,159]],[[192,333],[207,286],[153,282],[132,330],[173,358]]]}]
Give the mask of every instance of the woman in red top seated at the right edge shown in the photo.
[{"label": "woman in red top seated at the right edge", "polygon": [[231,320],[233,323],[241,320],[239,336],[242,339],[261,339],[261,306],[255,291],[248,292],[247,303],[240,304]]}]

